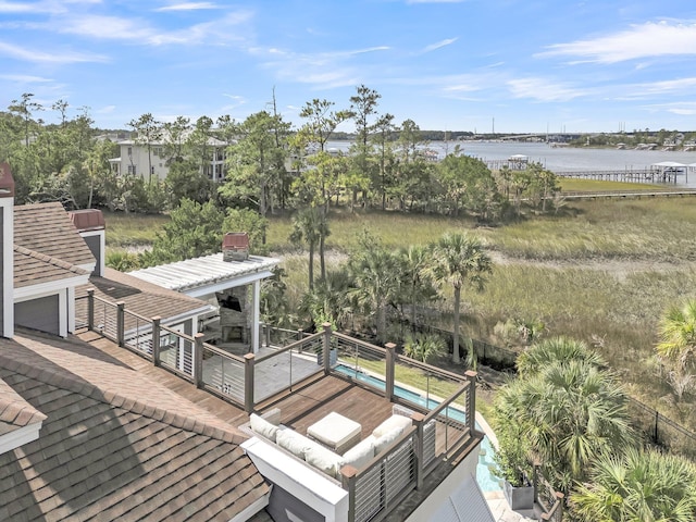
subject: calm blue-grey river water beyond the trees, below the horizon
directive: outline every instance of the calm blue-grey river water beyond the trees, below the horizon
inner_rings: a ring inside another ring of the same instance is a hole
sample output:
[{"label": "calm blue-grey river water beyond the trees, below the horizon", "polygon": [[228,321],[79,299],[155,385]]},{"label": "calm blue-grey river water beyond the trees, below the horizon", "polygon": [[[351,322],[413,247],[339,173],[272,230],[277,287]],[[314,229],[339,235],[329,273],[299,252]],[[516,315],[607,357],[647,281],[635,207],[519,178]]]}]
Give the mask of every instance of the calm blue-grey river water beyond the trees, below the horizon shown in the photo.
[{"label": "calm blue-grey river water beyond the trees, below the horizon", "polygon": [[[330,147],[348,150],[348,141],[331,141]],[[586,149],[575,147],[551,147],[547,144],[518,142],[473,142],[457,141],[445,144],[433,141],[430,148],[439,152],[440,157],[453,152],[459,145],[467,156],[484,161],[507,160],[514,154],[529,157],[530,161],[542,163],[554,172],[568,171],[613,171],[629,169],[649,169],[654,163],[675,161],[678,163],[696,164],[696,152],[662,151],[662,150],[617,150],[617,149]],[[684,182],[683,176],[680,177]],[[696,167],[689,171],[689,187],[696,187]]]}]

